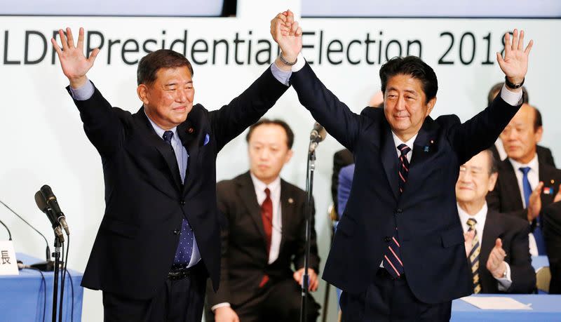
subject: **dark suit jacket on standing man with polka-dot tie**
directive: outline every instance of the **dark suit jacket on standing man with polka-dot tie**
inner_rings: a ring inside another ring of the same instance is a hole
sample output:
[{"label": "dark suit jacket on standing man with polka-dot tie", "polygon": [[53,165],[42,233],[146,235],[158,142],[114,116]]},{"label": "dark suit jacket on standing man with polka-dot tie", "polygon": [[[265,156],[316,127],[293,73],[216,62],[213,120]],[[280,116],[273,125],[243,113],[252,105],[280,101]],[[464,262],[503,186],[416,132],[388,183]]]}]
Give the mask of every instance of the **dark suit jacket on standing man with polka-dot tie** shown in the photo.
[{"label": "dark suit jacket on standing man with polka-dot tie", "polygon": [[[202,262],[218,288],[217,153],[286,89],[267,69],[216,111],[194,105],[177,126],[189,153],[184,185],[175,154],[156,135],[142,108],[130,114],[111,107],[97,89],[92,98],[75,100],[86,135],[101,155],[106,206],[82,286],[132,298],[154,296],[167,279],[187,217]],[[204,145],[206,135],[210,140]]]}]

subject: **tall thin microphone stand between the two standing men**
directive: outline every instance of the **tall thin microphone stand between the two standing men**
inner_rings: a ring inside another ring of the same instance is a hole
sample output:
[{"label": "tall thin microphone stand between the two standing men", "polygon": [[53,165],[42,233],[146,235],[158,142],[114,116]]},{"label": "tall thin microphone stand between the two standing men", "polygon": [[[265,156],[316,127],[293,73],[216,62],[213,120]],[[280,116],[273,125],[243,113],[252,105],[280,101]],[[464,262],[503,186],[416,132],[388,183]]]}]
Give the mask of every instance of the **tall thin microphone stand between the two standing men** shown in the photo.
[{"label": "tall thin microphone stand between the two standing men", "polygon": [[[310,142],[311,144],[312,142]],[[306,250],[304,252],[304,276],[302,278],[302,304],[300,306],[300,322],[307,320],[307,302],[309,293],[309,260],[310,260],[310,239],[311,239],[311,213],[312,213],[312,190],[313,190],[313,170],[316,169],[316,151],[313,149],[308,152],[308,166],[306,170],[306,237],[305,245]]]}]

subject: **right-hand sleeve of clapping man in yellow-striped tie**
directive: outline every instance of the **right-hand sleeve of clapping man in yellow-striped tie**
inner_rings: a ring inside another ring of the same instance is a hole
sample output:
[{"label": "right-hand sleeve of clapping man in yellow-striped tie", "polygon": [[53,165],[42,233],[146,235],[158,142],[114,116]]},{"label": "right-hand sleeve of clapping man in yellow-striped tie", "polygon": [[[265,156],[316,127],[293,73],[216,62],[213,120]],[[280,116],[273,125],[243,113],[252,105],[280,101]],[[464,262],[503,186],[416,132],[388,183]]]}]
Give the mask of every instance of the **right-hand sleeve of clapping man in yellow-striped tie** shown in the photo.
[{"label": "right-hand sleeve of clapping man in yellow-striped tie", "polygon": [[511,241],[508,264],[511,266],[511,279],[513,283],[508,293],[532,293],[536,288],[536,272],[532,267],[532,257],[529,254],[528,234],[529,227],[525,222],[517,220],[518,229]]}]

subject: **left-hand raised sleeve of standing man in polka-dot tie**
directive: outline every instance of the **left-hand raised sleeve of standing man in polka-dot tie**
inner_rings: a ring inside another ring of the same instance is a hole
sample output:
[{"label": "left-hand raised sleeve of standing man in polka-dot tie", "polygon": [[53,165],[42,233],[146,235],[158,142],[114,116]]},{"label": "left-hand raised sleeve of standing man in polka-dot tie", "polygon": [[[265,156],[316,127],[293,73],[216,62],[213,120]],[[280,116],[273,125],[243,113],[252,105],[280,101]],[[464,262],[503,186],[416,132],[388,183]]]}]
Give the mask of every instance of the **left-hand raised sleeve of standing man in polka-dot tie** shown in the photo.
[{"label": "left-hand raised sleeve of standing man in polka-dot tie", "polygon": [[[70,86],[67,86],[67,90],[70,93]],[[102,157],[114,154],[123,145],[125,137],[118,113],[125,112],[111,107],[97,88],[88,100],[74,100],[74,104],[80,112],[86,136],[97,152]]]}]

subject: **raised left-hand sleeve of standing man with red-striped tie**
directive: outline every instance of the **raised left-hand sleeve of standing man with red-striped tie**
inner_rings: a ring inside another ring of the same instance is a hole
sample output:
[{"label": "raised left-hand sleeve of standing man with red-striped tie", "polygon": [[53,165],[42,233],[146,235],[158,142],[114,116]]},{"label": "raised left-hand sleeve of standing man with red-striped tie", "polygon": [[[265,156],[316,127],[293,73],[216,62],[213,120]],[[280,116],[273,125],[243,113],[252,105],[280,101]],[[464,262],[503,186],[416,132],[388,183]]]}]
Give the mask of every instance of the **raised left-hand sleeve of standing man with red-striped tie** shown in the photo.
[{"label": "raised left-hand sleeve of standing man with red-striped tie", "polygon": [[360,116],[351,112],[349,107],[323,85],[307,62],[298,72],[292,72],[290,83],[295,88],[300,103],[311,112],[313,118],[335,140],[353,151],[360,133]]}]

